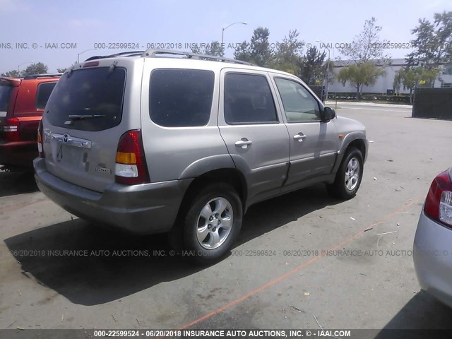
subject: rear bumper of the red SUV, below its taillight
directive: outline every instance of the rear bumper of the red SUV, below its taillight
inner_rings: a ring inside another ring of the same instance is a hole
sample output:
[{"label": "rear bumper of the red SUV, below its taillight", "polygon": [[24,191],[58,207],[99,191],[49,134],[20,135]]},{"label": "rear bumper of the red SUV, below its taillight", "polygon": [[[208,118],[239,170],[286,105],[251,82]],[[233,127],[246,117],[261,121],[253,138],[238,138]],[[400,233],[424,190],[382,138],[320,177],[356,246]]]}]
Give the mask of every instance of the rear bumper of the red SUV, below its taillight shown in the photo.
[{"label": "rear bumper of the red SUV, below its taillight", "polygon": [[37,156],[36,141],[0,141],[0,165],[32,168]]}]

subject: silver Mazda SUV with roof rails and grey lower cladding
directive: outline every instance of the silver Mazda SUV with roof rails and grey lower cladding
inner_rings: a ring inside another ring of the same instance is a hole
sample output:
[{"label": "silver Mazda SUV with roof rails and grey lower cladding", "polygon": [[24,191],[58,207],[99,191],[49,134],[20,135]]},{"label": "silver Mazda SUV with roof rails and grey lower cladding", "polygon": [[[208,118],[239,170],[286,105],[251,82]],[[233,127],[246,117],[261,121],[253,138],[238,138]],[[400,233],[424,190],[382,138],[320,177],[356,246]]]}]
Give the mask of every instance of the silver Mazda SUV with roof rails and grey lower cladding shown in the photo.
[{"label": "silver Mazda SUV with roof rails and grey lower cladding", "polygon": [[169,232],[198,263],[221,258],[249,206],[324,182],[355,196],[364,126],[299,78],[242,61],[148,50],[68,69],[38,131],[35,178],[97,225]]}]

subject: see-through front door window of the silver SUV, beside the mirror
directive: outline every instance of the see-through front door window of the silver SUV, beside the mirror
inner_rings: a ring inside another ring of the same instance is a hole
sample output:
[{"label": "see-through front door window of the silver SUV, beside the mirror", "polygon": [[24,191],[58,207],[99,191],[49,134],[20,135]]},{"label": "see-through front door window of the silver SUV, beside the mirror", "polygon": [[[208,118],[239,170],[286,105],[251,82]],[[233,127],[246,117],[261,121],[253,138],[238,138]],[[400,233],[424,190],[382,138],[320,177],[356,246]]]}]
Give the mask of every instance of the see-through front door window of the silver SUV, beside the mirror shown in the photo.
[{"label": "see-through front door window of the silver SUV, beside the mirror", "polygon": [[275,78],[275,83],[283,100],[287,122],[320,121],[319,102],[306,88],[283,78]]}]

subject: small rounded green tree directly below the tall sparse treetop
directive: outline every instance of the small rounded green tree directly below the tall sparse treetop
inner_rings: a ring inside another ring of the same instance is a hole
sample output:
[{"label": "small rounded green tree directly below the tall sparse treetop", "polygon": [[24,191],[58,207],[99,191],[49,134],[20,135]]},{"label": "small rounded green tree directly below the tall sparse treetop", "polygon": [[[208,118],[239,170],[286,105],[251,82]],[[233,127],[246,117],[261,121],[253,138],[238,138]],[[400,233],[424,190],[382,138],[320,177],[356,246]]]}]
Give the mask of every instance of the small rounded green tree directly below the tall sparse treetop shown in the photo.
[{"label": "small rounded green tree directly below the tall sparse treetop", "polygon": [[384,73],[385,71],[379,66],[376,66],[373,61],[366,61],[343,67],[339,71],[337,78],[343,85],[349,82],[350,85],[354,86],[356,88],[357,100],[359,100],[362,95],[362,86],[374,85],[376,79],[379,76],[383,76]]}]

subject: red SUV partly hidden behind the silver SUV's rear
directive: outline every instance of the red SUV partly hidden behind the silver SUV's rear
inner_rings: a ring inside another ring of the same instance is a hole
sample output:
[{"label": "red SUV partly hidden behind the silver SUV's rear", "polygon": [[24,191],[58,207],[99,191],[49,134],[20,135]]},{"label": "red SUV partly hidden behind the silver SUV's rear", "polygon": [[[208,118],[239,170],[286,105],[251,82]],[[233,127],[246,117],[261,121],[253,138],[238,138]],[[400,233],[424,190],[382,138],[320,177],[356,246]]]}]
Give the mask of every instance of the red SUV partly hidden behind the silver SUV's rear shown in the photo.
[{"label": "red SUV partly hidden behind the silver SUV's rear", "polygon": [[0,169],[32,168],[37,126],[60,73],[0,76]]}]

